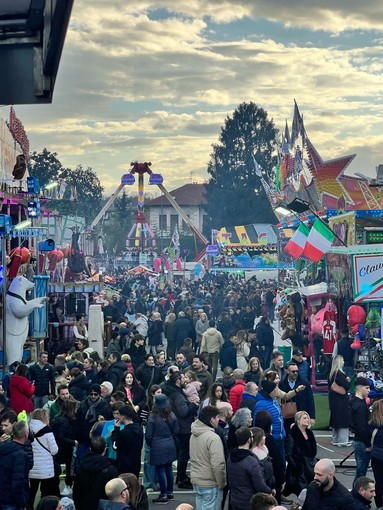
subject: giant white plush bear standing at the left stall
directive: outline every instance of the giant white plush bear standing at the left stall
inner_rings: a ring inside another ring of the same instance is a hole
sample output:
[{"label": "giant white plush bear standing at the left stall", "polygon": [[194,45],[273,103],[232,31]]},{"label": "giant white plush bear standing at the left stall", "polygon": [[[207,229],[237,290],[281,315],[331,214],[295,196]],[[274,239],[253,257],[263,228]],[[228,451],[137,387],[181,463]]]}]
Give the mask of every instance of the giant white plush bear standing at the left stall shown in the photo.
[{"label": "giant white plush bear standing at the left stall", "polygon": [[[34,288],[34,284],[24,278],[17,276],[12,280],[6,297],[6,359],[10,365],[14,361],[21,361],[23,355],[23,346],[28,336],[29,320],[28,316],[35,308],[42,308],[47,301],[46,297],[39,297],[26,300],[29,290]],[[2,328],[0,328],[2,330]]]}]

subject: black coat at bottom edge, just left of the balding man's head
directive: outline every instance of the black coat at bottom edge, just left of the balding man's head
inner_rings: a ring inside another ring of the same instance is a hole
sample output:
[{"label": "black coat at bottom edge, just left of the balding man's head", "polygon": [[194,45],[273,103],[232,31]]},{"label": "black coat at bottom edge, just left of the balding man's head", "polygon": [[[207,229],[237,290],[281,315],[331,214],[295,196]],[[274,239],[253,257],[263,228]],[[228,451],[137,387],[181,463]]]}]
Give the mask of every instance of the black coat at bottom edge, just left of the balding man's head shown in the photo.
[{"label": "black coat at bottom edge, just left of the balding man's head", "polygon": [[117,468],[103,455],[87,452],[80,462],[73,485],[76,510],[98,508],[99,500],[106,499],[105,485],[117,478]]}]

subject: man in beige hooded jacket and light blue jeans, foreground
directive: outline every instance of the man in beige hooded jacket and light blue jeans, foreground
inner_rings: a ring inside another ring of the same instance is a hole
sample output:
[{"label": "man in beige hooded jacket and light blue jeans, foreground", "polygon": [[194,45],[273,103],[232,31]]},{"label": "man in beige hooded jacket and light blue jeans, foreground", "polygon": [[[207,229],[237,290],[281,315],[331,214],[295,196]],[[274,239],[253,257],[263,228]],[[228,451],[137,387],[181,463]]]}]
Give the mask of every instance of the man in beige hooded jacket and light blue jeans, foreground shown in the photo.
[{"label": "man in beige hooded jacket and light blue jeans, foreground", "polygon": [[198,510],[221,508],[226,485],[226,463],[221,438],[216,434],[219,410],[206,406],[191,426],[190,478]]}]

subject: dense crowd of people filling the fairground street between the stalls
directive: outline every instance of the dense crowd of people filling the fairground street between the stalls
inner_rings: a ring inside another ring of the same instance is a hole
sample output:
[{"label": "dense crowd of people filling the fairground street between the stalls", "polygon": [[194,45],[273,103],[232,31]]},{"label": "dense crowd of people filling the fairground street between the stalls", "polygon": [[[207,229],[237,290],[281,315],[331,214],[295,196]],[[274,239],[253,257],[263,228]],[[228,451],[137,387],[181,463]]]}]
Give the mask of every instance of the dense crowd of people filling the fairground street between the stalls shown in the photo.
[{"label": "dense crowd of people filling the fairground street between the stalls", "polygon": [[232,510],[278,508],[302,491],[304,510],[369,508],[370,449],[381,506],[381,404],[370,422],[368,381],[358,378],[346,413],[353,423],[341,422],[347,393],[333,383],[349,387],[336,356],[333,442],[348,444],[349,428],[355,433],[349,493],[333,463],[317,459],[303,352],[294,349],[286,363],[274,349],[275,282],[220,276],[159,290],[143,278],[121,287],[122,298],[104,310],[115,322],[104,353],[89,347],[79,316],[68,353],[42,351],[4,375],[0,509],[32,510],[40,490],[39,510],[64,508],[64,499],[77,510],[147,510],[148,493],[158,490],[151,501],[166,504],[175,485],[193,490],[197,510],[218,510],[225,501]]}]

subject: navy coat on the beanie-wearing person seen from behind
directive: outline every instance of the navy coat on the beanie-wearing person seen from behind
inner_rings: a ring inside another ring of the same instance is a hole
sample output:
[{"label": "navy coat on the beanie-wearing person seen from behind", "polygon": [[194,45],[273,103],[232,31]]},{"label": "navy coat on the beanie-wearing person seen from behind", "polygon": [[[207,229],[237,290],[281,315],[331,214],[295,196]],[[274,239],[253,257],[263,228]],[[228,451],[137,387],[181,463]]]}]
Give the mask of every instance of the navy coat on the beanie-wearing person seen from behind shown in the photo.
[{"label": "navy coat on the beanie-wearing person seen from behind", "polygon": [[165,421],[156,414],[149,416],[145,438],[150,446],[150,464],[163,466],[171,464],[177,458],[175,437],[179,426],[174,413]]}]

